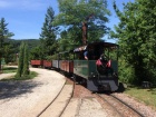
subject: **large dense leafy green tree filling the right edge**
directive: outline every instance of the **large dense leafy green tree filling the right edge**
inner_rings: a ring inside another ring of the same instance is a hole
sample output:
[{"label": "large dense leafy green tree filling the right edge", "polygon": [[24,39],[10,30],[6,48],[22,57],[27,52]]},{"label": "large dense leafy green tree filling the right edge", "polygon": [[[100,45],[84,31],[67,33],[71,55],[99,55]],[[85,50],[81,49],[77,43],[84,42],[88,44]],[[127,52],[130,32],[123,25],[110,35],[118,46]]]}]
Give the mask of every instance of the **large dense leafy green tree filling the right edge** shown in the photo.
[{"label": "large dense leafy green tree filling the right edge", "polygon": [[119,39],[123,59],[134,69],[134,82],[148,80],[156,84],[156,1],[128,2],[123,11],[115,2],[114,8],[120,22],[113,36]]}]

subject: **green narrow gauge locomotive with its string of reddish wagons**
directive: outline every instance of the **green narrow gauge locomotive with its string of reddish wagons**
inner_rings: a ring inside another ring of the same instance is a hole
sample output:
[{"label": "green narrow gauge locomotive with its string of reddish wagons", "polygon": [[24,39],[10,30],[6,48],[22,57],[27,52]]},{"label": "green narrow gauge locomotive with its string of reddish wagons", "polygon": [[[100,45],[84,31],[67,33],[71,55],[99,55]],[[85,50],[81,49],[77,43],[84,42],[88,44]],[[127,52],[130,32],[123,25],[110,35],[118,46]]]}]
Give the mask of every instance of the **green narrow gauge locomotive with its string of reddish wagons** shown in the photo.
[{"label": "green narrow gauge locomotive with its string of reddish wagons", "polygon": [[[84,57],[88,52],[88,59]],[[72,59],[61,59],[61,56],[72,55]],[[35,66],[35,62],[31,65]],[[58,60],[40,62],[43,68],[60,69],[72,75],[75,81],[85,85],[91,91],[118,89],[118,45],[110,42],[92,42],[80,46],[72,51],[58,53]]]}]

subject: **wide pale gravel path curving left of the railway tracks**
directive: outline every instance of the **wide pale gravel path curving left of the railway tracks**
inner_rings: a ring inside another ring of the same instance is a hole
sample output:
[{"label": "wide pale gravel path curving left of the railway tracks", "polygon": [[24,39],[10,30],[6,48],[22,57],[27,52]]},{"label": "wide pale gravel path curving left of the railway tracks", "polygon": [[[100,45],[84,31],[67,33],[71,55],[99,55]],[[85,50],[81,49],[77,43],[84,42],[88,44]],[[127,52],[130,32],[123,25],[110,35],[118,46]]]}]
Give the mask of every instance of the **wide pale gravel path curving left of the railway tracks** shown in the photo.
[{"label": "wide pale gravel path curving left of the railway tracks", "polygon": [[[31,68],[39,75],[27,81],[0,81],[0,117],[36,117],[62,88],[62,75]],[[0,75],[0,78],[4,78]],[[8,76],[7,76],[8,77]]]}]

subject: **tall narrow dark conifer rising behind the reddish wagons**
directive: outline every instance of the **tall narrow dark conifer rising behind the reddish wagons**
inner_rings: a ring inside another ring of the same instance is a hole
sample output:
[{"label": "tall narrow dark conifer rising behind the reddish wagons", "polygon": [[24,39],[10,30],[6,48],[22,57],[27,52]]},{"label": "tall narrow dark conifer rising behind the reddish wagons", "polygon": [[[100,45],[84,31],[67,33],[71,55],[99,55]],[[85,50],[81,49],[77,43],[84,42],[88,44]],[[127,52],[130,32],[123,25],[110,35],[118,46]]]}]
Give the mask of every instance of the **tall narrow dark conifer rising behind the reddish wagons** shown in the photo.
[{"label": "tall narrow dark conifer rising behind the reddish wagons", "polygon": [[55,11],[51,7],[47,9],[42,31],[40,33],[41,49],[46,56],[51,56],[56,50],[56,31],[57,27],[53,27],[52,21],[55,18]]}]

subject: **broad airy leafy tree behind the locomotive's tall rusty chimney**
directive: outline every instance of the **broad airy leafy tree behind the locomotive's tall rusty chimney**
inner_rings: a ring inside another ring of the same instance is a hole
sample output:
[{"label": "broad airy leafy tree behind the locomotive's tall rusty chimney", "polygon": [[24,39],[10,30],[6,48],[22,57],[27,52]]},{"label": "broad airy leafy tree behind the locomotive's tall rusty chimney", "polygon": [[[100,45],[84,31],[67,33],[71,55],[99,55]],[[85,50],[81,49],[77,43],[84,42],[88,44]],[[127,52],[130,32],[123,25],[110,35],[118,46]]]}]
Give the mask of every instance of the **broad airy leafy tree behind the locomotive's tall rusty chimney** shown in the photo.
[{"label": "broad airy leafy tree behind the locomotive's tall rusty chimney", "polygon": [[70,49],[82,43],[82,22],[87,21],[88,42],[100,40],[108,32],[106,22],[110,12],[106,0],[58,0],[58,3],[60,13],[53,23],[62,26],[62,31],[67,31],[64,39]]}]

